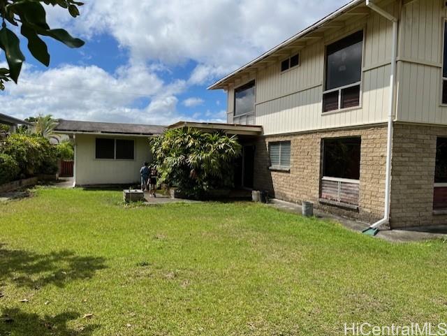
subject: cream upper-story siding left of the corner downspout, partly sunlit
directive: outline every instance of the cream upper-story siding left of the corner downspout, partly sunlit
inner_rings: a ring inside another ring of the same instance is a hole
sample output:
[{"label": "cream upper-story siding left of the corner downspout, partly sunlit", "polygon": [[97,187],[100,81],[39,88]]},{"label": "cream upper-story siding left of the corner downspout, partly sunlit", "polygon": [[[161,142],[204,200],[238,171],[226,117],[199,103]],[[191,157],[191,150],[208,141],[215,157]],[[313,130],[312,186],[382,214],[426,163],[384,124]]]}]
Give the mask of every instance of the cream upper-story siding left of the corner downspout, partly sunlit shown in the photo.
[{"label": "cream upper-story siding left of the corner downspout, partly sunlit", "polygon": [[[399,13],[397,2],[386,10]],[[363,30],[362,94],[360,107],[323,113],[325,46]],[[281,61],[228,88],[228,122],[233,122],[234,88],[256,80],[256,108],[251,124],[263,126],[265,135],[295,133],[386,122],[390,85],[392,24],[372,13],[346,22],[343,29],[325,34],[300,50],[300,66],[281,73]],[[237,120],[240,121],[240,120]]]}]

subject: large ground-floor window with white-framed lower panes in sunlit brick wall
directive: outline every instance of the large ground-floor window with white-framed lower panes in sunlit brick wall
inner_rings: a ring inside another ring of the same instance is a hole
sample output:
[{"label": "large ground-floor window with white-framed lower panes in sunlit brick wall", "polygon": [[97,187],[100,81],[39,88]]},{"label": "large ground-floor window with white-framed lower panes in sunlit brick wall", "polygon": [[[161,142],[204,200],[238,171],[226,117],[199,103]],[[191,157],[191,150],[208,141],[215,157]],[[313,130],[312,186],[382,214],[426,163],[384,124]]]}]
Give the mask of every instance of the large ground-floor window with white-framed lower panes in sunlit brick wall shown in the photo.
[{"label": "large ground-floor window with white-framed lower panes in sunlit brick wall", "polygon": [[323,140],[321,198],[358,205],[360,194],[360,138]]}]

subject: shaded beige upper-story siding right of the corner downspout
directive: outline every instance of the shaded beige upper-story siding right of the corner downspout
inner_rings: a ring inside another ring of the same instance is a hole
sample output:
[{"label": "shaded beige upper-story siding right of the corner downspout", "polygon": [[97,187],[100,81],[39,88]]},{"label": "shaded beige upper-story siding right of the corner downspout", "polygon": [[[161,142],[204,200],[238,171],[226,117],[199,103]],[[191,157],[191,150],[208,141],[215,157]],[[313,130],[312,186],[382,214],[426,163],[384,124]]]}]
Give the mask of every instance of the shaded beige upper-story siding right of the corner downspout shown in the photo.
[{"label": "shaded beige upper-story siding right of the corner downspout", "polygon": [[415,0],[402,8],[398,63],[398,121],[447,124],[441,105],[444,0]]}]

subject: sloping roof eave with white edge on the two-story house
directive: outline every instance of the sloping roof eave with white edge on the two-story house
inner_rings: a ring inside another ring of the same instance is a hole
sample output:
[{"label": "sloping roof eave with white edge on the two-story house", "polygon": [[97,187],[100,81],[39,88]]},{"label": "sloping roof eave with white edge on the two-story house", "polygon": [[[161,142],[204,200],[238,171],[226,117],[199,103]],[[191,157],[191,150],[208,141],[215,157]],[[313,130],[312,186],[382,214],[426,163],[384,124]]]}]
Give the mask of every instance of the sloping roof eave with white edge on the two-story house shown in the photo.
[{"label": "sloping roof eave with white edge on the two-story house", "polygon": [[[336,25],[328,25],[329,22],[332,22],[336,20],[338,17],[344,14],[349,15],[367,15],[369,14],[369,9],[365,6],[365,10],[358,10],[354,11],[356,7],[359,5],[365,5],[365,0],[353,0],[349,3],[347,3],[342,8],[339,8],[338,10],[335,10],[335,12],[331,13],[330,15],[324,17],[323,19],[319,20],[315,24],[312,24],[312,26],[307,27],[306,29],[300,31],[298,34],[295,34],[291,38],[288,38],[288,40],[284,41],[283,43],[277,45],[276,47],[272,48],[268,52],[265,52],[260,57],[254,59],[253,61],[250,61],[249,63],[245,64],[241,68],[238,68],[236,71],[233,71],[233,73],[230,73],[226,77],[222,78],[221,80],[218,80],[213,85],[208,87],[208,89],[225,89],[230,80],[232,80],[237,75],[249,75],[250,73],[253,73],[254,69],[258,64],[266,63],[269,64],[272,62],[272,60],[269,60],[271,57],[286,57],[286,54],[289,54],[287,50],[290,50],[291,48],[304,48],[305,45],[296,45],[291,47],[294,43],[297,43],[300,40],[305,40],[306,38],[313,38],[309,37],[313,33],[316,33],[318,29],[329,29],[329,28],[337,28]],[[362,8],[360,8],[362,9]],[[326,27],[325,27],[326,26]],[[319,38],[320,36],[316,36]],[[275,60],[276,61],[276,60]]]}]

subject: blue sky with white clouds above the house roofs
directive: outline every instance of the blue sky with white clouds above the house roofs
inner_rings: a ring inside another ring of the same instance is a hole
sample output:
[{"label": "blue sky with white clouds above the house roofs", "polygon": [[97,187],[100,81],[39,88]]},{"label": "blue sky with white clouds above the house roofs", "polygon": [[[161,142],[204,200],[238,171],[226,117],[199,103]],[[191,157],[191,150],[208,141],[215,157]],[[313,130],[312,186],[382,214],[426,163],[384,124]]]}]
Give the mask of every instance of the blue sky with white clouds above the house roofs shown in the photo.
[{"label": "blue sky with white clouds above the house roofs", "polygon": [[50,26],[68,29],[86,45],[72,50],[47,40],[50,68],[25,52],[19,85],[8,84],[0,94],[2,112],[145,124],[224,122],[226,94],[207,91],[208,85],[346,2],[95,0],[85,1],[74,20],[49,8]]}]

